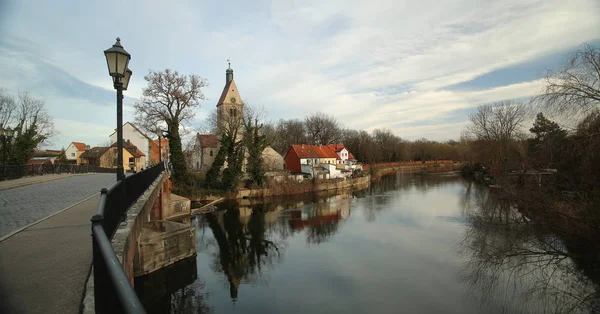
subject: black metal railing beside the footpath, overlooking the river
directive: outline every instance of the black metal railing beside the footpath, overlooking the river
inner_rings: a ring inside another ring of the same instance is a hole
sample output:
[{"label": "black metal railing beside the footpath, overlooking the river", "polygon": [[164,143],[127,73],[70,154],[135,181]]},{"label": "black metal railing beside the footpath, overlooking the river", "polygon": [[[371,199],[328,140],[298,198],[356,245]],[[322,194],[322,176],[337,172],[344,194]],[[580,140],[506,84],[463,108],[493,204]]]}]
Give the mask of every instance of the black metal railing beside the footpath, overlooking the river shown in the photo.
[{"label": "black metal railing beside the footpath, overlooking the river", "polygon": [[98,212],[91,219],[96,313],[145,313],[112,248],[111,239],[129,207],[164,170],[164,163],[158,163],[100,192]]}]

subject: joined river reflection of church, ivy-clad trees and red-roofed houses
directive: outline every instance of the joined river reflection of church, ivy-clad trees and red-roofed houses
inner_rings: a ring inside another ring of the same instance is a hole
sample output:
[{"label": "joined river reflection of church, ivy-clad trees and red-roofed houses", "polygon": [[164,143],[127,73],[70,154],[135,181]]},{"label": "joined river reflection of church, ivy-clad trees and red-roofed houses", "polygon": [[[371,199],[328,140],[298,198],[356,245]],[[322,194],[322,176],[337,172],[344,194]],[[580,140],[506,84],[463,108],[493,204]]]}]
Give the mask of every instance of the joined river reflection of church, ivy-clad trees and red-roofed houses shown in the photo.
[{"label": "joined river reflection of church, ivy-clad trees and red-roofed houses", "polygon": [[308,243],[329,240],[340,221],[350,217],[352,197],[336,195],[312,202],[290,197],[266,204],[239,200],[225,204],[227,210],[204,216],[218,245],[213,267],[227,278],[232,300],[237,300],[242,282],[260,280],[264,266],[279,261],[285,240],[293,233],[305,231]]}]

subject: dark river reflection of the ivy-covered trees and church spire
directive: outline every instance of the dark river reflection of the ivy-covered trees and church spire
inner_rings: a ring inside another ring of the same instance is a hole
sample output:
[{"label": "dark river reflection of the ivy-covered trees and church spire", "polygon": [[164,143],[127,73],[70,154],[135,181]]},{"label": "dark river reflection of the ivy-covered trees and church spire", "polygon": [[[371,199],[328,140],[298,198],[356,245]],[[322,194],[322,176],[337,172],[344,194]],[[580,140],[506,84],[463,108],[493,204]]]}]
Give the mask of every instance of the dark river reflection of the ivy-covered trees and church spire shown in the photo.
[{"label": "dark river reflection of the ivy-covered trees and church spire", "polygon": [[237,299],[242,280],[257,281],[264,266],[274,264],[281,256],[281,245],[265,237],[265,215],[252,211],[247,225],[240,211],[230,208],[223,214],[222,226],[216,214],[205,216],[219,247],[213,267],[227,277],[230,296]]}]

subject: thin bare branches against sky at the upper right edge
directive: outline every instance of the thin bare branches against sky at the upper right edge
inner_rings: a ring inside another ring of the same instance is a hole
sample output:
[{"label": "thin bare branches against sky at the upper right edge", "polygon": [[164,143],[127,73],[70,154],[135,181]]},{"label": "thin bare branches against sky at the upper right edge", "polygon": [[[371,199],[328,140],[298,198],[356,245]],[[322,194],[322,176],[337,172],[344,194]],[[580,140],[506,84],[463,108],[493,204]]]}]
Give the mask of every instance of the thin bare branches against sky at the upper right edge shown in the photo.
[{"label": "thin bare branches against sky at the upper right edge", "polygon": [[600,107],[600,49],[582,45],[560,71],[548,71],[542,93],[535,98],[564,114],[588,114]]}]

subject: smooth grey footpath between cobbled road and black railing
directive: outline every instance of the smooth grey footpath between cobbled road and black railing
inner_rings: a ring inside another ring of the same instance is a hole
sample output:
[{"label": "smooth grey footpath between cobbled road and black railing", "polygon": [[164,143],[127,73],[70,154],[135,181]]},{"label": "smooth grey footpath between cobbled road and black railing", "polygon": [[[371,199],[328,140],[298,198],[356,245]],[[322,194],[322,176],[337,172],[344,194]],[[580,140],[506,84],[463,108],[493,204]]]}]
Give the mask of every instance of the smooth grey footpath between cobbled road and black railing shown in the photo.
[{"label": "smooth grey footpath between cobbled road and black railing", "polygon": [[99,196],[0,242],[0,313],[79,313]]}]

